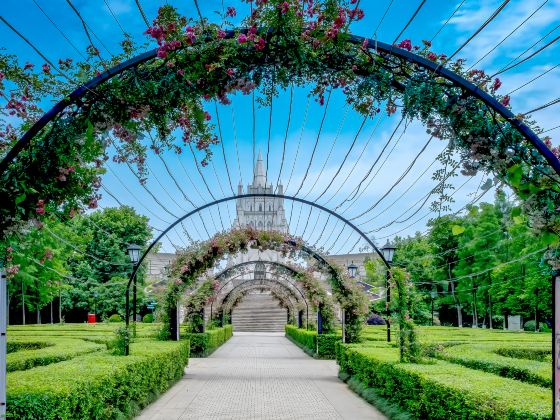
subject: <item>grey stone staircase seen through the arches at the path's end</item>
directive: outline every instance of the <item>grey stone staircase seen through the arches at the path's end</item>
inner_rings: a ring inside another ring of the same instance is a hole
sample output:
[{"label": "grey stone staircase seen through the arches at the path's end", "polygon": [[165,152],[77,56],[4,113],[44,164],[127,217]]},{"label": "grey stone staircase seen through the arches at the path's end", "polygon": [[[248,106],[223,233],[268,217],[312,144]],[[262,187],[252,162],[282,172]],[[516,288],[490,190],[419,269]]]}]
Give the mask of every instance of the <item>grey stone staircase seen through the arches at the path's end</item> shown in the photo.
[{"label": "grey stone staircase seen through the arches at the path's end", "polygon": [[287,311],[268,293],[249,293],[233,309],[231,322],[236,332],[284,332]]}]

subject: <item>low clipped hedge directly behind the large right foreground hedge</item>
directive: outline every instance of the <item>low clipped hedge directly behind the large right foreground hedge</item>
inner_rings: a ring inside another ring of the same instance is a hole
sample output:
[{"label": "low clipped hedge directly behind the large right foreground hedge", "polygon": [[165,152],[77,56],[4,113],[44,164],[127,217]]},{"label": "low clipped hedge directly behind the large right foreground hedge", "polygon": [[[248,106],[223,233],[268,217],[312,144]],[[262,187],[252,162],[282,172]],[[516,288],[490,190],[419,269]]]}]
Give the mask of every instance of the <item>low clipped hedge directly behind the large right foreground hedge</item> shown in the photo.
[{"label": "low clipped hedge directly behind the large right foreground hedge", "polygon": [[[552,387],[550,363],[513,359],[496,353],[495,344],[462,344],[434,352],[438,359],[457,363],[471,369],[494,373],[544,387]],[[523,349],[527,351],[527,349]]]}]

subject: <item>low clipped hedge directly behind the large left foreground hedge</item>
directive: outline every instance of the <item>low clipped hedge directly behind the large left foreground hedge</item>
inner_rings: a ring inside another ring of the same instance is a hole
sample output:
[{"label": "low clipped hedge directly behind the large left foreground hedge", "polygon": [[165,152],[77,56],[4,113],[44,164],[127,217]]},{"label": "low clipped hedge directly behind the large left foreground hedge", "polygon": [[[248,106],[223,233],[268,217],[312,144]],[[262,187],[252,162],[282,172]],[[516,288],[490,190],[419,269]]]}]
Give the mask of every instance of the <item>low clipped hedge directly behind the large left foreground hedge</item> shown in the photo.
[{"label": "low clipped hedge directly behind the large left foreground hedge", "polygon": [[[93,353],[104,350],[106,346],[91,341],[84,341],[72,338],[45,338],[44,343],[16,341],[11,346],[21,345],[28,350],[10,352],[6,358],[6,370],[14,372],[16,370],[32,369],[36,366],[45,366],[51,363],[58,363],[72,359],[82,354]],[[45,344],[44,347],[34,347],[33,345]]]}]

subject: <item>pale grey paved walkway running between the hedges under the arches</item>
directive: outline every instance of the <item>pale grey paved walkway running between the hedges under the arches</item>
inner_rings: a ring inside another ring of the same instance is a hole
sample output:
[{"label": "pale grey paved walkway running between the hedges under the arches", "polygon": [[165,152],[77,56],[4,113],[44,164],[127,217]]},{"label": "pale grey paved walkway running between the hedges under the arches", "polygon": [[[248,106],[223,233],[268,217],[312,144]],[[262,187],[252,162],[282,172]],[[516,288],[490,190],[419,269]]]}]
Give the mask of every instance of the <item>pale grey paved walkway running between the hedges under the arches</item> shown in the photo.
[{"label": "pale grey paved walkway running between the hedges under the arches", "polygon": [[238,333],[138,417],[148,419],[385,419],[283,335]]}]

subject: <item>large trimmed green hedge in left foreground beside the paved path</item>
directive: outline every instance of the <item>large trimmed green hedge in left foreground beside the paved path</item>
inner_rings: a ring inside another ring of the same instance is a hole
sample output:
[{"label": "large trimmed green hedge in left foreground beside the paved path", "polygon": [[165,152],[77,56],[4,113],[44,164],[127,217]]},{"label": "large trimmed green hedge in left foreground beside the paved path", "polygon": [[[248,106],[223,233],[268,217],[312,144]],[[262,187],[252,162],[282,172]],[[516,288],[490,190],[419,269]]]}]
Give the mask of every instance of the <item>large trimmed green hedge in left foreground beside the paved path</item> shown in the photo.
[{"label": "large trimmed green hedge in left foreground beside the paved path", "polygon": [[7,417],[132,418],[183,375],[189,342],[144,340],[130,352],[103,351],[8,374]]}]

